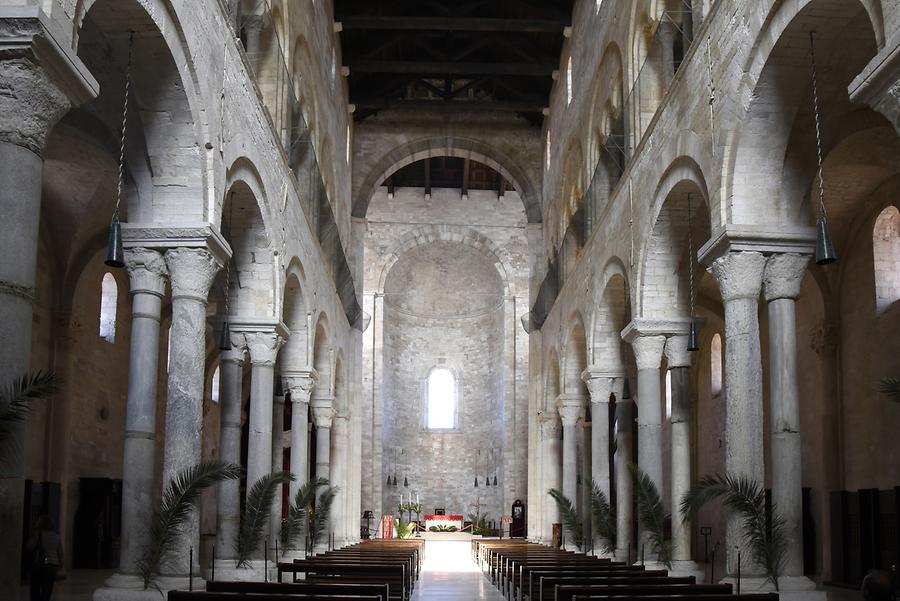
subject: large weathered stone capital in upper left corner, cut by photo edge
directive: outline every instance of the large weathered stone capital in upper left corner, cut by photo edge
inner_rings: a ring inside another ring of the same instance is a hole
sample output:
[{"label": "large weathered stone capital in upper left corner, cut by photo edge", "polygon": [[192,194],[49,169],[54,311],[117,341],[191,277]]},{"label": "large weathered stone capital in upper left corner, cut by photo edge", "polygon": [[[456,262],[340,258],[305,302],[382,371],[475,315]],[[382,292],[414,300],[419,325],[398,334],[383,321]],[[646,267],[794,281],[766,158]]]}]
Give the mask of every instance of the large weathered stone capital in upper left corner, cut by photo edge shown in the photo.
[{"label": "large weathered stone capital in upper left corner, cut by photo edge", "polygon": [[100,90],[37,6],[0,9],[0,141],[38,156],[53,126]]}]

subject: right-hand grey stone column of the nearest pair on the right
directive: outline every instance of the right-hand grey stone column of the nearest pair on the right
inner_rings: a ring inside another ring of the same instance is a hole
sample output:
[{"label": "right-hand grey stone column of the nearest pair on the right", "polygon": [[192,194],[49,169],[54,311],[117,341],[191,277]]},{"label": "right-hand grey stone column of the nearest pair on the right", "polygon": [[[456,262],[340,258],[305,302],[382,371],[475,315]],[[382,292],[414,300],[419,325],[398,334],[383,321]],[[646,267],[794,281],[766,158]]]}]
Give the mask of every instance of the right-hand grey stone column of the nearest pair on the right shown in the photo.
[{"label": "right-hand grey stone column of the nearest pair on the right", "polygon": [[785,520],[787,553],[783,574],[788,577],[803,576],[803,477],[795,305],[808,263],[809,255],[772,255],[763,275],[769,312],[772,503]]}]

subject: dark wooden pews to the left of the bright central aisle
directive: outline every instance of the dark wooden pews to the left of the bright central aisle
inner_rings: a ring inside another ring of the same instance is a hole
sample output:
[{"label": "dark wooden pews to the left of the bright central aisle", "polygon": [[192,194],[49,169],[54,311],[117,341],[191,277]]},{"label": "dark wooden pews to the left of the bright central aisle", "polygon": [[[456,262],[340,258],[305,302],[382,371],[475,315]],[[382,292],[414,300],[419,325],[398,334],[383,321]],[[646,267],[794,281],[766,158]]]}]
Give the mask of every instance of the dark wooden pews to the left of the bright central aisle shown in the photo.
[{"label": "dark wooden pews to the left of the bright central aisle", "polygon": [[169,591],[168,601],[408,601],[425,542],[379,539],[278,563],[277,582],[209,581],[205,591]]}]

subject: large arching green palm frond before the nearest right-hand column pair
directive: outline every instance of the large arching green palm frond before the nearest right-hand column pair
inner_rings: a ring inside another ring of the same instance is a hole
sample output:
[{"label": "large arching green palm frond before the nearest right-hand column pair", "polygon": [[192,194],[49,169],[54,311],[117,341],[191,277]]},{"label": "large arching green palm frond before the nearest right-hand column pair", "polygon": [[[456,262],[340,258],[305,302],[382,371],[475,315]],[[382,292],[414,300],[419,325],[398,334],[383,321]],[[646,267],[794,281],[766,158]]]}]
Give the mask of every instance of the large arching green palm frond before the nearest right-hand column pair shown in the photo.
[{"label": "large arching green palm frond before the nearest right-hand column pair", "polygon": [[763,566],[766,577],[778,590],[778,576],[787,551],[784,518],[766,505],[766,492],[758,482],[745,476],[725,474],[704,476],[681,499],[681,519],[687,521],[714,499],[743,518],[744,542],[753,561]]}]

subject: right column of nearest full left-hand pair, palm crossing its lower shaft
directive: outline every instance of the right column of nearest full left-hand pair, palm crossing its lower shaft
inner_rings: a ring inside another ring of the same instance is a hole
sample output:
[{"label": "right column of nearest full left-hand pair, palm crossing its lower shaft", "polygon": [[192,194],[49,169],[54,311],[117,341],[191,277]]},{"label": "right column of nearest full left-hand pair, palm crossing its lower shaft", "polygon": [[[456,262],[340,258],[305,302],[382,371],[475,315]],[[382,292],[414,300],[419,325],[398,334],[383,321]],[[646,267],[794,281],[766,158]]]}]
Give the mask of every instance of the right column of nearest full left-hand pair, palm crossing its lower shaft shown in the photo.
[{"label": "right column of nearest full left-hand pair, palm crossing its lower shaft", "polygon": [[[203,385],[206,362],[206,302],[209,287],[222,260],[204,248],[166,251],[172,281],[168,398],[163,487],[201,460]],[[176,549],[165,563],[166,576],[187,576],[189,550],[194,549],[193,572],[199,573],[200,530],[197,510],[191,512]]]}]

